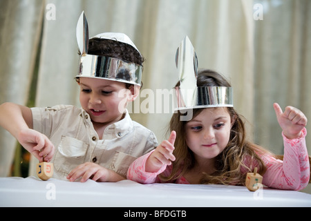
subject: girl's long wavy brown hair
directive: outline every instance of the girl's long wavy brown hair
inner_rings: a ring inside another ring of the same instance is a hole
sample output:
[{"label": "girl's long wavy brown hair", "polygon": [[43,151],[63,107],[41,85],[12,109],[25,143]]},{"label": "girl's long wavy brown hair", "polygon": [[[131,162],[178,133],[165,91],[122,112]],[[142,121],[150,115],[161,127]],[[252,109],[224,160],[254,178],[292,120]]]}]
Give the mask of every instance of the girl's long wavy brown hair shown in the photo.
[{"label": "girl's long wavy brown hair", "polygon": [[[226,86],[229,82],[222,75],[213,70],[199,70],[197,86]],[[196,117],[204,108],[193,109],[193,117]],[[261,157],[257,155],[269,153],[261,146],[247,141],[245,134],[245,120],[243,116],[236,113],[234,108],[227,107],[227,111],[234,123],[231,128],[230,138],[225,149],[216,156],[216,171],[212,174],[202,174],[200,182],[202,184],[245,184],[247,172],[254,171],[254,165],[258,168],[258,173],[263,175],[266,171],[265,164]],[[187,113],[186,113],[187,114]],[[185,174],[195,164],[194,154],[186,144],[186,121],[180,121],[180,117],[185,113],[174,113],[171,117],[170,131],[176,131],[175,150],[173,154],[176,160],[172,163],[172,172],[168,177],[160,175],[160,179],[173,182],[178,177]],[[270,154],[270,153],[269,153]],[[251,166],[249,162],[252,162]],[[256,162],[254,164],[254,162]],[[247,165],[245,164],[247,163]],[[241,169],[243,172],[241,172]],[[245,172],[244,172],[245,171]]]}]

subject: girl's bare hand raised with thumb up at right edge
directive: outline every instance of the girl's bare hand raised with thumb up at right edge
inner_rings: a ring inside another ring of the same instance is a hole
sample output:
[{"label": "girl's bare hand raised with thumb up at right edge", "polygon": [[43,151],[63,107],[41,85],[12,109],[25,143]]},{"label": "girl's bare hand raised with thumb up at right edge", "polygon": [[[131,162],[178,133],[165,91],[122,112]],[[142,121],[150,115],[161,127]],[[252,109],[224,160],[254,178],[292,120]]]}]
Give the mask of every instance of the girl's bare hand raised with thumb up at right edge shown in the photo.
[{"label": "girl's bare hand raised with thumb up at right edge", "polygon": [[300,137],[301,130],[307,125],[307,117],[299,109],[292,106],[287,106],[284,113],[279,104],[274,103],[273,107],[285,137],[288,139]]}]

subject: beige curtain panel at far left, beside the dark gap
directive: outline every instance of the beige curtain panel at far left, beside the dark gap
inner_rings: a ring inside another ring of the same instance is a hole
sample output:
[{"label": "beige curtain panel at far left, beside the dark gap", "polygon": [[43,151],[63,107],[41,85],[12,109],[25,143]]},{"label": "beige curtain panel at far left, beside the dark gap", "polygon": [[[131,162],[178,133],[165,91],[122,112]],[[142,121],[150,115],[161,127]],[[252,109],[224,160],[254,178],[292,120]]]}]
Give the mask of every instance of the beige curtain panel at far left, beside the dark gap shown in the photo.
[{"label": "beige curtain panel at far left, beside the dark gap", "polygon": [[[26,105],[41,33],[43,1],[0,1],[0,104]],[[10,174],[16,140],[0,128],[0,176]]]}]

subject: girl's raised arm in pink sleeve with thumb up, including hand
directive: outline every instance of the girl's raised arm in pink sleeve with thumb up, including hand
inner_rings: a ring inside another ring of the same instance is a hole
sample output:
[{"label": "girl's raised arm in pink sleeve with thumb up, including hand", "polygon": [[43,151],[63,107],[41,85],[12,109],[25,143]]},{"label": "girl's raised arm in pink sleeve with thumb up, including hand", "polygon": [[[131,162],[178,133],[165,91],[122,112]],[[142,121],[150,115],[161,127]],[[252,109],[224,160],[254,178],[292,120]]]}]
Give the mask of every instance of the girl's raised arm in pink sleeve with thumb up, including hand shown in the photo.
[{"label": "girl's raised arm in pink sleeve with thumb up, including hand", "polygon": [[283,113],[279,104],[274,104],[278,122],[283,129],[284,158],[262,156],[267,166],[263,184],[277,189],[301,190],[309,182],[310,164],[305,135],[307,118],[298,109],[288,106]]}]

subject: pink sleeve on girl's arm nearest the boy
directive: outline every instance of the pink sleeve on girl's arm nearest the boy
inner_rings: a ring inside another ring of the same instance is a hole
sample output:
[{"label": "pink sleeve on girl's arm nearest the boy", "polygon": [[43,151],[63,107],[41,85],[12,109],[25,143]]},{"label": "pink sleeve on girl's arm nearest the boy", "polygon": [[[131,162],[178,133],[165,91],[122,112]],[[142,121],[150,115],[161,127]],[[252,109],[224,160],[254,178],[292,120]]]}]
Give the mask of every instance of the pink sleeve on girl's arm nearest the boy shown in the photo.
[{"label": "pink sleeve on girl's arm nearest the boy", "polygon": [[127,176],[126,176],[127,179],[133,180],[135,182],[139,182],[142,184],[151,184],[151,183],[159,182],[158,175],[167,168],[167,165],[163,165],[160,168],[160,170],[156,173],[149,173],[149,172],[146,172],[145,170],[146,161],[149,155],[153,153],[153,151],[145,155],[142,155],[141,157],[138,157],[138,159],[136,159],[131,164],[131,166],[129,166],[129,170],[127,171]]}]

